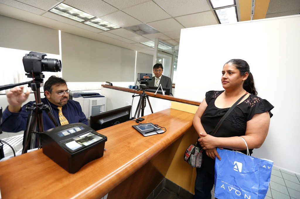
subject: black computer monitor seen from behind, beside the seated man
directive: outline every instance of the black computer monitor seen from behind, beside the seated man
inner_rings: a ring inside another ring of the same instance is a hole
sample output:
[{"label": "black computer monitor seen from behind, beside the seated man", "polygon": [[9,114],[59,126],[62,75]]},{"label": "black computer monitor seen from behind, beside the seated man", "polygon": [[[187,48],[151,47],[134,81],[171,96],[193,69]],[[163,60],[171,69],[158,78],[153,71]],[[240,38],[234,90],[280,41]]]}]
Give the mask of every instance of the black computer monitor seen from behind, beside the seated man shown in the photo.
[{"label": "black computer monitor seen from behind, beside the seated man", "polygon": [[103,128],[126,122],[130,119],[130,112],[131,105],[91,115],[90,127],[95,131],[98,131]]}]

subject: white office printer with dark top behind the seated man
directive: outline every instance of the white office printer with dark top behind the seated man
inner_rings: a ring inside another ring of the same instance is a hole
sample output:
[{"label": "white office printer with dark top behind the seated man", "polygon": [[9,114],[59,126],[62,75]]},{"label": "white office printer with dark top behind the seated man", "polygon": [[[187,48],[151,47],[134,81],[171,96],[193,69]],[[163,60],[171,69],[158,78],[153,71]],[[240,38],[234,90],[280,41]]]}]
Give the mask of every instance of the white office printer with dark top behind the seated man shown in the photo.
[{"label": "white office printer with dark top behind the seated man", "polygon": [[83,91],[70,91],[69,100],[80,103],[85,117],[106,111],[106,97],[99,93],[85,93]]}]

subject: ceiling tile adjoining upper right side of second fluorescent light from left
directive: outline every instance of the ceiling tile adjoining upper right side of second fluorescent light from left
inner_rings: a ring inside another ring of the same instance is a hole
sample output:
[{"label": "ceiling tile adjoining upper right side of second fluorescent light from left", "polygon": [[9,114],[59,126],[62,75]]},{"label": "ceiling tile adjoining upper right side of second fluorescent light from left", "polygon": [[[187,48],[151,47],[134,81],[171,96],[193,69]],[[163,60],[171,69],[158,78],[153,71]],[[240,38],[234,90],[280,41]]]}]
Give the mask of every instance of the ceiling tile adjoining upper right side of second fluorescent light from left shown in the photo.
[{"label": "ceiling tile adjoining upper right side of second fluorescent light from left", "polygon": [[128,26],[142,23],[139,20],[133,18],[132,16],[122,12],[121,10],[106,16],[102,16],[101,19],[104,19],[120,27],[128,27]]}]

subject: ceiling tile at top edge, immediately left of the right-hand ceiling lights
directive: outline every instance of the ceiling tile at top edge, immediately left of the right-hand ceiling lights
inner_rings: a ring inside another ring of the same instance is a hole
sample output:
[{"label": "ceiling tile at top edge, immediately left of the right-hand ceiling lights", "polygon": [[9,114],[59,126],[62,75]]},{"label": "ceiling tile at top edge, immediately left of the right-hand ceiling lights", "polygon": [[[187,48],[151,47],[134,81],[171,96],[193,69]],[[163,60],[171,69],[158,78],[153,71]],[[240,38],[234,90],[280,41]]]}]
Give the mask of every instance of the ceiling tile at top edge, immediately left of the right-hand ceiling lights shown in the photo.
[{"label": "ceiling tile at top edge, immediately left of the right-hand ceiling lights", "polygon": [[206,0],[155,0],[171,16],[182,16],[210,10]]}]

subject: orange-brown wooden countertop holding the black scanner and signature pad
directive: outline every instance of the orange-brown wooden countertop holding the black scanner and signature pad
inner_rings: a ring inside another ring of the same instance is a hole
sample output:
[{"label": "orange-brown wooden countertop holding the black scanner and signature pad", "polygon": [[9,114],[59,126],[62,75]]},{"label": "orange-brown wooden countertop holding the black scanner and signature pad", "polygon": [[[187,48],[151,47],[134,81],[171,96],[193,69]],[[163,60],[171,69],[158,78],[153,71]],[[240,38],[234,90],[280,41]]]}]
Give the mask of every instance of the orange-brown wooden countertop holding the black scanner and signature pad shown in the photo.
[{"label": "orange-brown wooden countertop holding the black scanner and signature pad", "polygon": [[[104,156],[70,174],[43,154],[32,151],[0,162],[0,190],[6,198],[100,198],[160,154],[192,127],[193,115],[166,109],[144,116],[167,128],[144,137],[127,121],[100,130],[107,136]],[[110,194],[109,194],[110,197]]]}]

